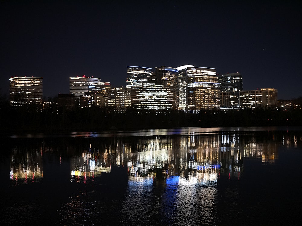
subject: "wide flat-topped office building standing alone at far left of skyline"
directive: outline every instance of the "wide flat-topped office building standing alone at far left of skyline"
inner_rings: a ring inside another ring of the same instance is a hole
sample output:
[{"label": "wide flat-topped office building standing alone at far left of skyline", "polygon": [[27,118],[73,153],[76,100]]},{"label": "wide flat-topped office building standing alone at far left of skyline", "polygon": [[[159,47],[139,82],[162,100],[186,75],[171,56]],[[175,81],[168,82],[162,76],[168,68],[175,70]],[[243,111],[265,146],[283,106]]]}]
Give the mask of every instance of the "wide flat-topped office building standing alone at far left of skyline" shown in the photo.
[{"label": "wide flat-topped office building standing alone at far left of skyline", "polygon": [[12,106],[42,103],[43,78],[11,77],[9,79],[9,101]]}]

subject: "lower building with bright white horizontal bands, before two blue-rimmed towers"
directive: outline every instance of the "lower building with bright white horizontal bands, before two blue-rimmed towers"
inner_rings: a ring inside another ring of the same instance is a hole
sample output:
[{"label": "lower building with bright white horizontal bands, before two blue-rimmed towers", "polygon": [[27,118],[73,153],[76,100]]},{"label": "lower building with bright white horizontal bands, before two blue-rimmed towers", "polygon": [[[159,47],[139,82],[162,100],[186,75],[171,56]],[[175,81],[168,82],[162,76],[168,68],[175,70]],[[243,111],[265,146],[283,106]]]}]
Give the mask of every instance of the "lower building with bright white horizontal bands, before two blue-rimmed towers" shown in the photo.
[{"label": "lower building with bright white horizontal bands, before two blue-rimmed towers", "polygon": [[169,92],[170,89],[154,83],[145,83],[141,87],[132,87],[132,106],[139,110],[171,110],[173,99]]}]

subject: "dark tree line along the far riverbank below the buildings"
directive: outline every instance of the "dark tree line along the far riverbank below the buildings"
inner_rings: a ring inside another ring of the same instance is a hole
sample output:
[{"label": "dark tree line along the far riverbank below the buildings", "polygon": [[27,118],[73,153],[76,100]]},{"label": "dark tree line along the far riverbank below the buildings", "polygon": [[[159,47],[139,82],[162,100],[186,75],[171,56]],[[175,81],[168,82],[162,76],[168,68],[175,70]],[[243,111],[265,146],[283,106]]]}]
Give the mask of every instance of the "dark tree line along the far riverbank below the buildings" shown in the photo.
[{"label": "dark tree line along the far riverbank below the buildings", "polygon": [[[302,98],[300,98],[302,100]],[[0,133],[76,132],[136,130],[179,127],[231,126],[302,126],[302,110],[296,109],[210,109],[190,112],[170,110],[138,111],[129,108],[118,112],[108,108],[89,107],[74,110],[47,107],[39,104],[11,107],[0,97]]]}]

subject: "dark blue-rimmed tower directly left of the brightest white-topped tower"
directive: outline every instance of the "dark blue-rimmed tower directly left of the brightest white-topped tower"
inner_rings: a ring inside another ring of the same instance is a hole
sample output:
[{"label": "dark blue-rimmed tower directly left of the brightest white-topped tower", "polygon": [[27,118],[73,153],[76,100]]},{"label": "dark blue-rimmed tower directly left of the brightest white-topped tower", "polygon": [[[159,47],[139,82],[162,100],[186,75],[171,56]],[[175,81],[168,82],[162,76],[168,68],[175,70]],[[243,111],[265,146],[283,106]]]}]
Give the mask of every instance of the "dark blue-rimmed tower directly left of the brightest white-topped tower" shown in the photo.
[{"label": "dark blue-rimmed tower directly left of the brightest white-topped tower", "polygon": [[169,98],[172,98],[172,108],[179,107],[179,89],[178,89],[179,72],[173,67],[157,67],[155,68],[155,84],[162,85],[169,89]]}]

